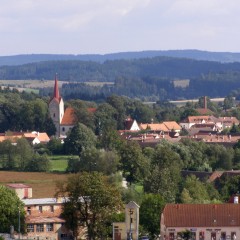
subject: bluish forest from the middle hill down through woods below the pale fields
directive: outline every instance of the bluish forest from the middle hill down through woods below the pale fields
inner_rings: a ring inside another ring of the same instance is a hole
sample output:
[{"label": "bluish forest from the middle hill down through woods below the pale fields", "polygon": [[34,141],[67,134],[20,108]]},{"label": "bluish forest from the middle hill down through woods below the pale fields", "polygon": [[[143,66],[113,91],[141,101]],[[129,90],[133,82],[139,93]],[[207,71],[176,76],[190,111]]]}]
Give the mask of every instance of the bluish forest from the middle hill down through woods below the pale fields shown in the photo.
[{"label": "bluish forest from the middle hill down through woods below the pale fields", "polygon": [[[187,58],[153,57],[128,60],[46,61],[18,66],[1,66],[0,79],[53,79],[58,73],[65,99],[101,101],[112,94],[146,101],[225,97],[240,88],[240,63],[220,63]],[[187,86],[176,85],[189,80]],[[86,82],[109,82],[90,86]],[[41,90],[48,95],[49,89]]]}]

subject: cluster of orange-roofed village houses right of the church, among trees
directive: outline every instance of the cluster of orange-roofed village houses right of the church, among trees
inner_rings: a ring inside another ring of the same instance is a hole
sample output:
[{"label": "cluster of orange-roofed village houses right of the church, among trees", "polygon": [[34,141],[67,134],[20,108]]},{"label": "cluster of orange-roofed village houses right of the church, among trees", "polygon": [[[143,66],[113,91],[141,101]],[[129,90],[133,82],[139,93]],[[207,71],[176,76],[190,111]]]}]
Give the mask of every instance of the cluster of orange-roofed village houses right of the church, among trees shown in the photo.
[{"label": "cluster of orange-roofed village houses right of the church, among trees", "polygon": [[[189,116],[179,124],[175,121],[164,121],[162,123],[137,123],[136,120],[127,118],[125,129],[119,134],[128,140],[139,141],[142,146],[153,145],[166,139],[171,142],[178,142],[184,138],[207,143],[220,143],[232,146],[240,139],[240,134],[222,133],[224,129],[230,129],[239,125],[236,117],[214,116]],[[187,134],[181,135],[181,131]]]}]

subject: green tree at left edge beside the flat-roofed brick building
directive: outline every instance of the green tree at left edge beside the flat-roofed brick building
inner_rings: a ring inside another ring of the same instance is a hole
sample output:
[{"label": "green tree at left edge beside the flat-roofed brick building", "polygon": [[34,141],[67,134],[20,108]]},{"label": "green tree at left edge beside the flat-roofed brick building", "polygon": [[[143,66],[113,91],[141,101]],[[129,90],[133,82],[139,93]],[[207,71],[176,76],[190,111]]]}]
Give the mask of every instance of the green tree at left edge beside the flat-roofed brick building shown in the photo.
[{"label": "green tree at left edge beside the flat-roofed brick building", "polygon": [[0,185],[0,232],[9,232],[10,227],[18,229],[20,215],[21,232],[24,232],[25,211],[24,204],[15,191]]}]

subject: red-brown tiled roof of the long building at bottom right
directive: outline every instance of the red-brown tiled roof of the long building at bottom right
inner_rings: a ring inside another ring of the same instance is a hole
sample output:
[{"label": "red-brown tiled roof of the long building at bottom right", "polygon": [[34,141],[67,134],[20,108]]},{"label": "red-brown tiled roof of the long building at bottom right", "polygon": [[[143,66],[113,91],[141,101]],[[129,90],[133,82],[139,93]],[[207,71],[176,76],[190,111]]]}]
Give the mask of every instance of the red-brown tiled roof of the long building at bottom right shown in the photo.
[{"label": "red-brown tiled roof of the long building at bottom right", "polygon": [[240,204],[167,204],[166,227],[227,227],[240,225]]}]

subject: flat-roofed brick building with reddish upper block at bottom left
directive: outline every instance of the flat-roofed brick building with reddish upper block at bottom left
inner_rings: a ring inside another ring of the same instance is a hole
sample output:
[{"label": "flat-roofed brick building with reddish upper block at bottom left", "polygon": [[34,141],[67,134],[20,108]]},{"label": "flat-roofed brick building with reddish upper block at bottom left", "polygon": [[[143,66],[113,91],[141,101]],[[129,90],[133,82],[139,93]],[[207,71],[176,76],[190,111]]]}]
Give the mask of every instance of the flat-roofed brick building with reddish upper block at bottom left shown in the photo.
[{"label": "flat-roofed brick building with reddish upper block at bottom left", "polygon": [[61,217],[65,198],[32,198],[32,188],[25,184],[7,184],[24,203],[26,234],[21,239],[67,240],[71,232],[65,228]]}]

